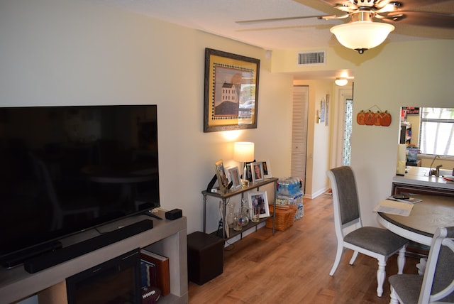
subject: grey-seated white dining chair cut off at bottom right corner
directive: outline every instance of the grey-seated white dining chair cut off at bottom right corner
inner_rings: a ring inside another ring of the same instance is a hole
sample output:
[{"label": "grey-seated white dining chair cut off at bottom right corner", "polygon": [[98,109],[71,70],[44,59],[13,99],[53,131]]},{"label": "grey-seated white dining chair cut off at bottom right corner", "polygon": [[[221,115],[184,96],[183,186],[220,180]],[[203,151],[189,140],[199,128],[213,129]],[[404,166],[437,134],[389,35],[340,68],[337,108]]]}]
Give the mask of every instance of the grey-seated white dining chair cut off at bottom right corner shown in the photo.
[{"label": "grey-seated white dining chair cut off at bottom right corner", "polygon": [[438,227],[423,276],[390,276],[391,303],[454,303],[454,227]]}]

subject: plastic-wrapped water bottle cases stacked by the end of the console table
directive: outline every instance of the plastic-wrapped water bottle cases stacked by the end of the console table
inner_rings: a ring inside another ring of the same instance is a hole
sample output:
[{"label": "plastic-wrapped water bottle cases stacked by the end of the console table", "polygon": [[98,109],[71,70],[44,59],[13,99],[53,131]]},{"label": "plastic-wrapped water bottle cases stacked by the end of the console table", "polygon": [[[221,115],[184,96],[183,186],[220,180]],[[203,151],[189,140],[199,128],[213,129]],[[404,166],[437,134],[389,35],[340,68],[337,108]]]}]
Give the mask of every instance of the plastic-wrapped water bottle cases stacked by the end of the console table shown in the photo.
[{"label": "plastic-wrapped water bottle cases stacked by the end of the console table", "polygon": [[279,178],[277,180],[276,204],[297,206],[295,219],[301,219],[304,215],[302,185],[301,178]]}]

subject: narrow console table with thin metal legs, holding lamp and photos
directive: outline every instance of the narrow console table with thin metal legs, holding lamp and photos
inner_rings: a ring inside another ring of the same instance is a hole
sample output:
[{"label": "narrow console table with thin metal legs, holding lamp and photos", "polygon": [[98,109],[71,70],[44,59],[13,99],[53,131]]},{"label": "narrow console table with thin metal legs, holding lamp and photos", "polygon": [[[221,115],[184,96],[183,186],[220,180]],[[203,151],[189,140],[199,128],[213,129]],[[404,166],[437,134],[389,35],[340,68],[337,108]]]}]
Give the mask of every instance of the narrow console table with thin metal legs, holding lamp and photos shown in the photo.
[{"label": "narrow console table with thin metal legs, holding lamp and photos", "polygon": [[[226,205],[227,205],[227,200],[228,198],[230,197],[233,197],[235,195],[241,195],[241,198],[243,198],[243,195],[245,192],[248,192],[250,190],[258,190],[260,187],[264,186],[264,185],[269,185],[271,183],[274,183],[274,198],[273,198],[273,213],[272,213],[272,234],[274,235],[275,234],[275,221],[276,221],[276,195],[277,195],[277,178],[267,178],[265,180],[263,180],[262,182],[257,182],[257,183],[249,183],[249,186],[248,187],[243,187],[239,190],[235,190],[235,191],[228,191],[226,194],[221,194],[221,193],[218,193],[218,192],[209,192],[209,191],[202,191],[201,194],[204,196],[204,232],[206,232],[206,197],[208,196],[211,196],[211,197],[216,197],[218,199],[221,199],[222,200],[222,214],[223,214],[223,221],[225,221],[226,219]],[[254,223],[252,221],[249,221],[248,225],[245,226],[243,228],[242,231],[240,232],[237,232],[233,229],[230,229],[229,231],[229,237],[228,239],[231,239],[232,237],[235,237],[236,235],[240,234],[241,236],[243,236],[243,232],[245,230],[248,230],[250,228],[253,228],[253,227],[257,227],[258,224],[260,224],[261,222],[265,222],[266,219],[260,219],[259,222],[257,223]],[[225,231],[225,224],[223,223],[223,237],[226,237],[226,231]],[[216,232],[215,232],[216,233]]]}]

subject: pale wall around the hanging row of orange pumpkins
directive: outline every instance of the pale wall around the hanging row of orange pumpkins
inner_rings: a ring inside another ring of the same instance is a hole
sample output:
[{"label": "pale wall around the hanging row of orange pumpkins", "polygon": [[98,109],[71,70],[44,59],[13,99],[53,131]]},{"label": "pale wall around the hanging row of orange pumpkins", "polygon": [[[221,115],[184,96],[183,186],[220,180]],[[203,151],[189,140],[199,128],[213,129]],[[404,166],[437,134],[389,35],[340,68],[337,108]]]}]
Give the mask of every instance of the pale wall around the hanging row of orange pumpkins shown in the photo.
[{"label": "pale wall around the hanging row of orange pumpkins", "polygon": [[355,69],[353,112],[377,105],[392,114],[389,127],[353,123],[352,166],[365,224],[376,224],[372,209],[391,192],[400,107],[453,107],[453,50],[454,40],[394,43]]}]

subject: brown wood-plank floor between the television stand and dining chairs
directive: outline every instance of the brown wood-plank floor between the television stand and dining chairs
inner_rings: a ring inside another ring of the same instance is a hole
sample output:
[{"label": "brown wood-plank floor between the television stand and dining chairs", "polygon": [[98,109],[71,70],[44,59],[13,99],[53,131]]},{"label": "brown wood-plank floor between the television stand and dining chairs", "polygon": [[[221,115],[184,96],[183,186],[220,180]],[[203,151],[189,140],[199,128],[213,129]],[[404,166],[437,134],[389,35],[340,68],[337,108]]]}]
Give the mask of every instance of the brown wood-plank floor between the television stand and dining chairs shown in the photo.
[{"label": "brown wood-plank floor between the television stand and dining chairs", "polygon": [[[221,276],[199,286],[189,282],[189,303],[389,303],[389,275],[397,257],[387,263],[382,298],[377,297],[377,260],[345,251],[334,276],[336,256],[332,197],[304,199],[304,217],[284,232],[263,227],[224,252]],[[417,259],[407,258],[404,273],[417,273]]]}]

